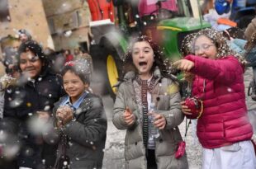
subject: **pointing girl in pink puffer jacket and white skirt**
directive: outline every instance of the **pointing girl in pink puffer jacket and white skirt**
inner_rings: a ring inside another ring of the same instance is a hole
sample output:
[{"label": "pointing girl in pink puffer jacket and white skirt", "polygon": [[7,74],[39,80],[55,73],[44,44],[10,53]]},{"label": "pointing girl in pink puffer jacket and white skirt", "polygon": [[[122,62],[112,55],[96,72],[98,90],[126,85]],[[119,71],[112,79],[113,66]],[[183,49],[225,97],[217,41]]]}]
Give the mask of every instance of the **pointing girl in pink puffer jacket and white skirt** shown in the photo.
[{"label": "pointing girl in pink puffer jacket and white skirt", "polygon": [[[235,57],[218,31],[199,31],[193,41],[195,55],[174,65],[195,77],[192,96],[203,101],[197,136],[203,147],[202,168],[255,168],[253,135],[244,96],[244,61]],[[192,112],[182,102],[185,115]]]}]

